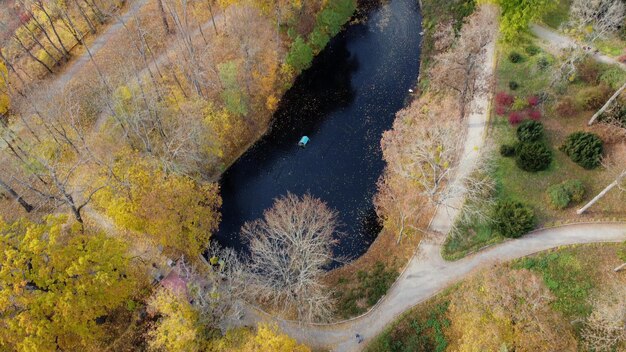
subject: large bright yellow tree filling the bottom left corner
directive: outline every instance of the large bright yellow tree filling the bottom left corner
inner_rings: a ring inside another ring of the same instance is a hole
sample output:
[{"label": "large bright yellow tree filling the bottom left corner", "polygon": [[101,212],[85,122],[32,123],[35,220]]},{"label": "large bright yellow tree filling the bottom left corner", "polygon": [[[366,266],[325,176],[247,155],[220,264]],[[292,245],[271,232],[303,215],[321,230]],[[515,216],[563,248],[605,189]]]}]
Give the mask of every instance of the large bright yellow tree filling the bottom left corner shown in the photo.
[{"label": "large bright yellow tree filling the bottom left corner", "polygon": [[94,346],[96,319],[136,292],[125,244],[78,228],[66,216],[0,221],[0,350]]}]

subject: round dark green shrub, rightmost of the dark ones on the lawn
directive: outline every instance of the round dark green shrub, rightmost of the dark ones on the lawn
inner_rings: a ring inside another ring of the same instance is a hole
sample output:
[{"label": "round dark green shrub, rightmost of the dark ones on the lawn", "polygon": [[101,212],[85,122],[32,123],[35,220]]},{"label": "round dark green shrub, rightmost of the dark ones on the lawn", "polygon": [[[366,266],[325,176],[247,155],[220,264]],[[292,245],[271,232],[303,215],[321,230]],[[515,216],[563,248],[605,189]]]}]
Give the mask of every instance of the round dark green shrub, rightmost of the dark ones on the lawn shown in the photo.
[{"label": "round dark green shrub, rightmost of the dark ones on the lawn", "polygon": [[595,169],[602,162],[604,146],[594,133],[575,132],[567,137],[561,151],[585,169]]}]

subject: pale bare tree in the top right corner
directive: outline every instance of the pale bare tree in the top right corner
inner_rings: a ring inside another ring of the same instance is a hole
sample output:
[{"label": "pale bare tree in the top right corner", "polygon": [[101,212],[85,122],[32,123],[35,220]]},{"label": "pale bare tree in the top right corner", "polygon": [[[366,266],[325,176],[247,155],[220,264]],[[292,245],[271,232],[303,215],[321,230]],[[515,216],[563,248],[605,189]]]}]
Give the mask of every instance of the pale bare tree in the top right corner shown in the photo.
[{"label": "pale bare tree in the top right corner", "polygon": [[622,0],[574,0],[570,13],[570,25],[579,30],[592,28],[587,40],[594,42],[624,25],[626,5]]}]

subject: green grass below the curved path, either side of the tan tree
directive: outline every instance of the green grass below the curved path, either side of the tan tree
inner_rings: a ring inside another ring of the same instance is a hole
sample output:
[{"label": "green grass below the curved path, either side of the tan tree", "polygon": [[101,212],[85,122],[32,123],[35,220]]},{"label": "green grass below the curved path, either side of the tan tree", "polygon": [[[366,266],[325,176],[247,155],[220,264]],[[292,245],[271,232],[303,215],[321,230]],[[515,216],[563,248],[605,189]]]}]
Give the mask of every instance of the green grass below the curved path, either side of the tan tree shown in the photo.
[{"label": "green grass below the curved path, either side of the tan tree", "polygon": [[[551,308],[562,313],[567,321],[576,322],[578,334],[591,312],[590,300],[606,295],[615,284],[626,284],[626,276],[612,270],[622,262],[618,252],[625,248],[626,243],[569,246],[503,265],[511,275],[520,269],[539,274],[556,298]],[[407,311],[372,340],[365,351],[445,350],[455,342],[447,330],[451,324],[447,307],[454,297],[463,294],[459,287],[461,284]]]}]

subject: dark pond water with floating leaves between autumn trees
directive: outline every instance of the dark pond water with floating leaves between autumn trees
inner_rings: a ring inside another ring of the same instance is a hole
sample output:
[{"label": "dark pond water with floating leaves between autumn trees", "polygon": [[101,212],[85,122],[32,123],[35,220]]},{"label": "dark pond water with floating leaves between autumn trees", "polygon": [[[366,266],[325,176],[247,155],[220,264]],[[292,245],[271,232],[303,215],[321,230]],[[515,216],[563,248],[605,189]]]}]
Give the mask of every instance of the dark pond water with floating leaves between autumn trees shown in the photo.
[{"label": "dark pond water with floating leaves between autumn trees", "polygon": [[270,132],[222,176],[221,245],[245,250],[241,226],[287,192],[339,212],[337,254],[358,257],[374,241],[380,139],[417,81],[421,42],[417,1],[383,2],[330,42],[284,96]]}]

